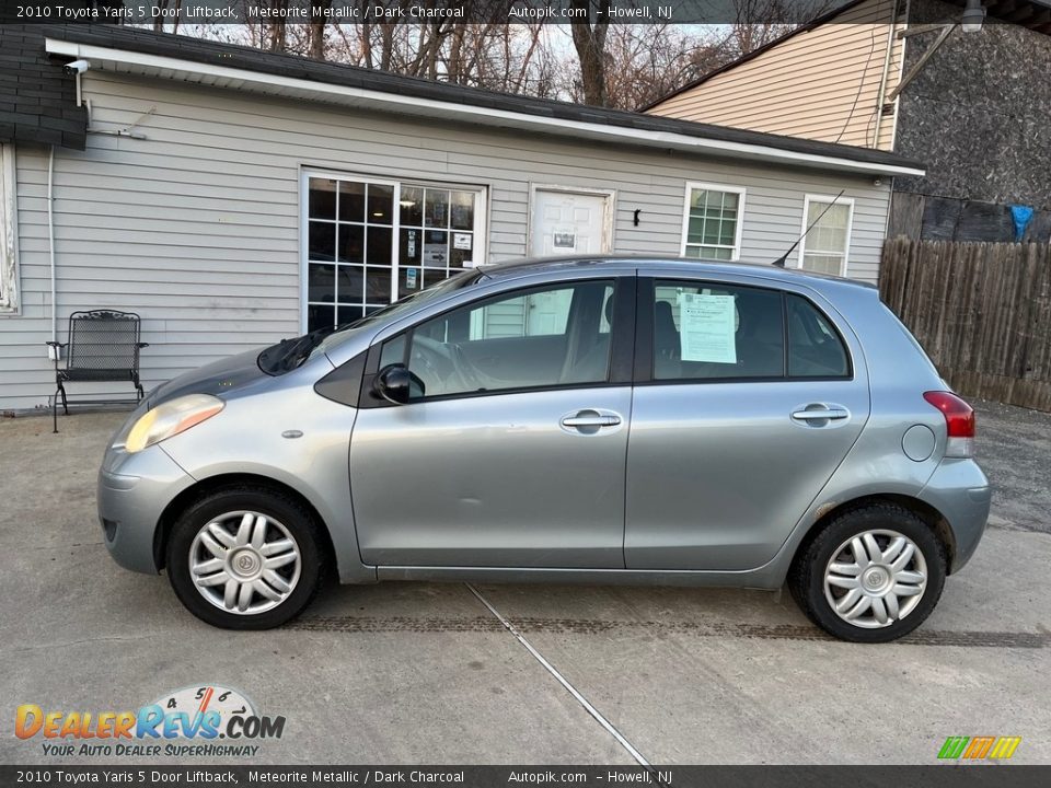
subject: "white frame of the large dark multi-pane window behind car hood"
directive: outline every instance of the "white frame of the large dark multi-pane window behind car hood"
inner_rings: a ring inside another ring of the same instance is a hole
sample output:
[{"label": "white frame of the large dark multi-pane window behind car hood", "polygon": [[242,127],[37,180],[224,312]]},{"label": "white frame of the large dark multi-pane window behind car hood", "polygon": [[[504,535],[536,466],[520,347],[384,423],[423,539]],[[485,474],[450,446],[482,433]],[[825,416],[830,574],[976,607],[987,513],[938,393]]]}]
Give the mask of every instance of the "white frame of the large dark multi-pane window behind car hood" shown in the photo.
[{"label": "white frame of the large dark multi-pane window behind car hood", "polygon": [[[392,222],[391,228],[391,293],[390,300],[388,303],[393,303],[397,300],[397,288],[399,280],[402,269],[404,267],[414,267],[414,266],[403,266],[399,259],[401,253],[400,250],[400,239],[401,239],[401,210],[400,201],[402,196],[402,188],[405,186],[420,186],[423,188],[435,188],[435,189],[448,189],[450,192],[471,192],[475,195],[475,207],[474,207],[474,228],[470,231],[473,233],[473,244],[474,248],[472,252],[476,252],[473,256],[470,266],[471,268],[477,268],[478,266],[486,265],[488,263],[488,247],[489,247],[489,234],[488,234],[488,211],[489,211],[489,184],[487,183],[459,183],[454,181],[434,181],[430,178],[413,178],[413,177],[403,177],[401,175],[391,175],[391,174],[373,174],[367,172],[344,172],[337,170],[327,170],[314,166],[301,166],[300,176],[299,176],[299,325],[300,331],[305,333],[307,320],[308,320],[308,305],[312,303],[310,301],[310,179],[311,178],[324,178],[328,181],[339,181],[348,183],[359,183],[359,184],[374,184],[378,186],[391,186],[394,189],[393,197],[393,208],[392,208]],[[314,220],[314,221],[327,221],[327,220]],[[339,223],[338,217],[334,220],[335,223]],[[386,227],[386,225],[382,225]],[[452,233],[453,230],[448,230],[447,232]],[[466,232],[466,231],[465,231]],[[339,263],[332,262],[333,266],[338,266]],[[350,264],[345,264],[350,265]],[[363,265],[363,264],[362,264]],[[415,266],[419,267],[419,266]],[[464,267],[463,270],[467,268]],[[314,302],[316,303],[316,302]],[[333,302],[335,304],[335,302]]]}]

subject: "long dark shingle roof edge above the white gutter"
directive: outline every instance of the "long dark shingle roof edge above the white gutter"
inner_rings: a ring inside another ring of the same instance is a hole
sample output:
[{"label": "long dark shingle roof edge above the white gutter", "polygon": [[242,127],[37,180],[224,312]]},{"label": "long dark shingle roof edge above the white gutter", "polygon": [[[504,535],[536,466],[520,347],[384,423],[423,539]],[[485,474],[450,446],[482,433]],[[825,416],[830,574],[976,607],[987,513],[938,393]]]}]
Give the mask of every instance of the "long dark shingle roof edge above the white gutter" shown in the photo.
[{"label": "long dark shingle roof edge above the white gutter", "polygon": [[[392,93],[438,102],[464,104],[495,111],[556,118],[588,124],[607,125],[642,131],[666,132],[718,142],[763,146],[796,153],[830,157],[839,160],[865,162],[887,166],[922,169],[903,157],[867,148],[817,142],[726,126],[700,124],[677,118],[623,109],[586,106],[568,102],[533,99],[465,88],[431,80],[339,63],[310,60],[292,55],[263,51],[251,47],[203,40],[169,33],[115,25],[45,25],[48,37],[62,40],[135,51],[158,57],[177,58],[196,63],[243,69],[276,74],[308,82]],[[567,131],[571,134],[571,130]]]}]

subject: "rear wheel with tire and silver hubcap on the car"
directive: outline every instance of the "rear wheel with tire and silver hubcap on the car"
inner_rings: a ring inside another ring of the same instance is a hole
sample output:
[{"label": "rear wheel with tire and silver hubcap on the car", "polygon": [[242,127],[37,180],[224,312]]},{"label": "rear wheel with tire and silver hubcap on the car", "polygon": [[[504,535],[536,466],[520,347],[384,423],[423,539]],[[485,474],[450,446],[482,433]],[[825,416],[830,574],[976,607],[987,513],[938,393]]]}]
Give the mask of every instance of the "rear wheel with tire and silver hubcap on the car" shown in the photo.
[{"label": "rear wheel with tire and silver hubcap on the car", "polygon": [[788,589],[830,635],[888,642],[931,615],[946,566],[945,547],[923,520],[893,503],[870,503],[834,518],[804,546]]}]

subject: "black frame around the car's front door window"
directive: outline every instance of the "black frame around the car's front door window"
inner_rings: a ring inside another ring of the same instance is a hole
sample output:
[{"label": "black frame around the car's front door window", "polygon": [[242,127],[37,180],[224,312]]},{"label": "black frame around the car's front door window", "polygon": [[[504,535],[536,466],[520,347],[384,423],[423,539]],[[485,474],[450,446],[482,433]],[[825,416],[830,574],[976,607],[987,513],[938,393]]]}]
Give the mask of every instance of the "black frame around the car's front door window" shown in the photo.
[{"label": "black frame around the car's front door window", "polygon": [[[559,383],[554,385],[530,385],[517,386],[513,389],[497,389],[493,391],[472,391],[458,392],[454,394],[439,394],[437,396],[414,399],[405,404],[390,403],[372,392],[372,385],[376,376],[379,374],[380,358],[383,355],[383,347],[401,337],[408,337],[405,343],[405,352],[411,352],[412,334],[416,328],[434,320],[440,320],[444,315],[461,309],[480,309],[488,303],[503,301],[511,298],[528,296],[533,292],[544,290],[559,289],[565,287],[577,287],[587,282],[611,282],[613,285],[613,329],[610,335],[610,363],[607,368],[605,380],[591,383]],[[358,407],[412,407],[414,405],[426,405],[428,403],[448,402],[451,399],[467,399],[474,397],[506,396],[509,394],[530,394],[555,391],[569,391],[576,389],[605,389],[611,386],[632,385],[633,356],[635,352],[635,303],[636,288],[638,287],[638,277],[627,274],[597,274],[594,276],[579,277],[574,279],[556,279],[545,282],[524,283],[520,282],[517,287],[509,287],[499,292],[490,292],[485,296],[464,301],[457,304],[450,304],[439,312],[420,317],[412,325],[405,326],[401,331],[392,334],[382,335],[382,338],[373,339],[368,350],[368,358],[365,362],[365,374],[361,379],[361,389],[358,397]]]}]

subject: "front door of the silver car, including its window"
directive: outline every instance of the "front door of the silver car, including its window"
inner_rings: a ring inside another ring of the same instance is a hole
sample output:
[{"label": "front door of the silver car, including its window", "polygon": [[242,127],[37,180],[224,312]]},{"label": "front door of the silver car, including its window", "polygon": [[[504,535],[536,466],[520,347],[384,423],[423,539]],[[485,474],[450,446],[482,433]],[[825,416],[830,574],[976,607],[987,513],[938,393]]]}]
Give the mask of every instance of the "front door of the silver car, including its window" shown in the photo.
[{"label": "front door of the silver car, including its window", "polygon": [[[350,445],[365,563],[623,568],[633,313],[634,277],[579,279],[377,343]],[[397,364],[401,405],[376,393]]]}]

